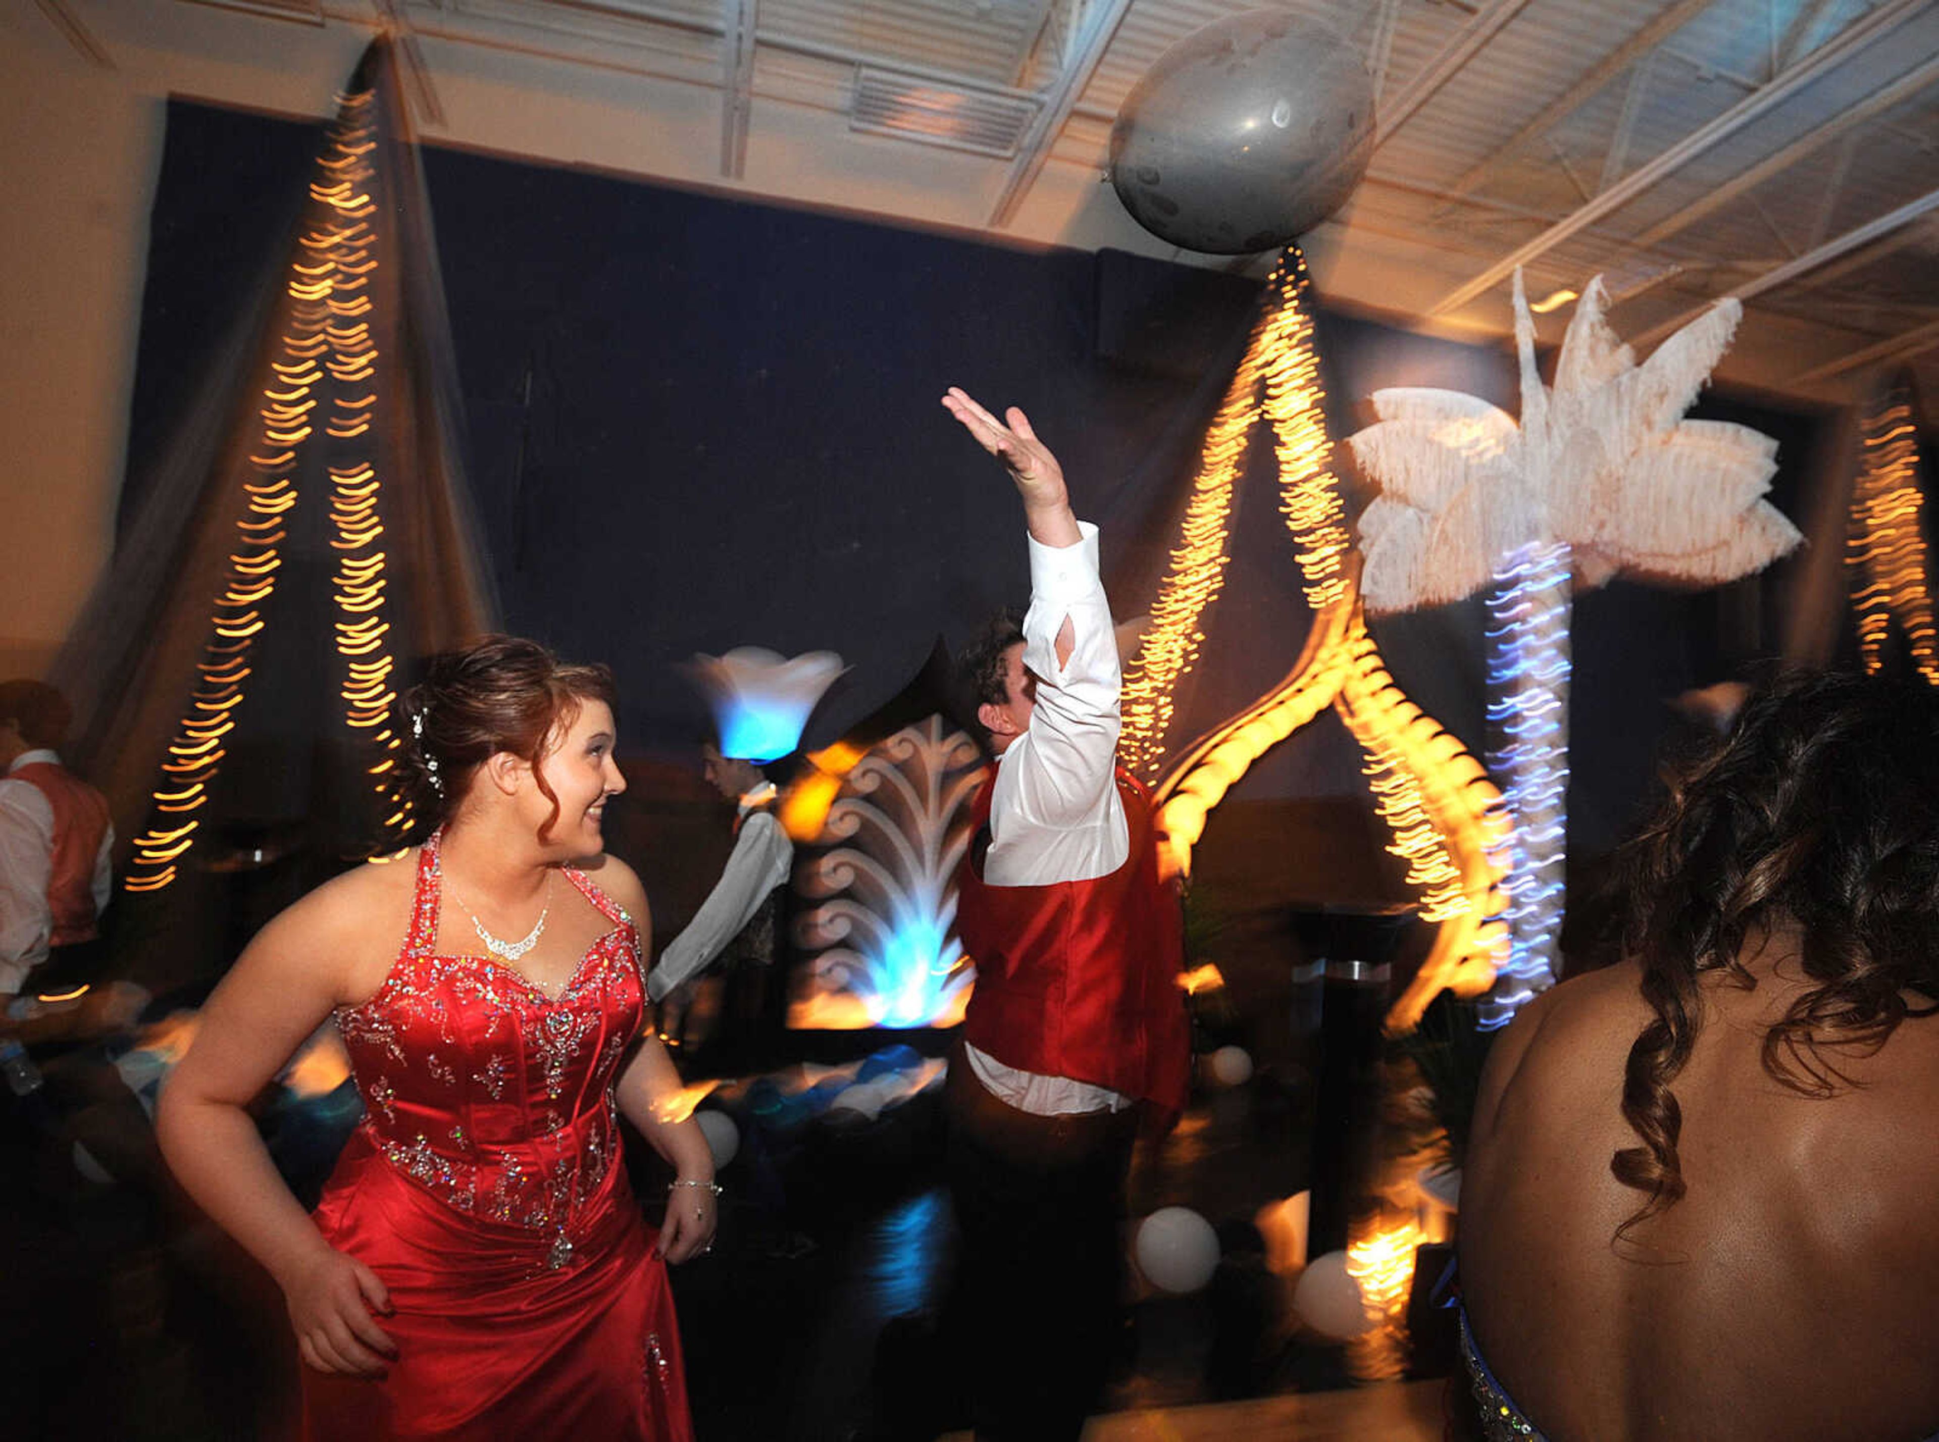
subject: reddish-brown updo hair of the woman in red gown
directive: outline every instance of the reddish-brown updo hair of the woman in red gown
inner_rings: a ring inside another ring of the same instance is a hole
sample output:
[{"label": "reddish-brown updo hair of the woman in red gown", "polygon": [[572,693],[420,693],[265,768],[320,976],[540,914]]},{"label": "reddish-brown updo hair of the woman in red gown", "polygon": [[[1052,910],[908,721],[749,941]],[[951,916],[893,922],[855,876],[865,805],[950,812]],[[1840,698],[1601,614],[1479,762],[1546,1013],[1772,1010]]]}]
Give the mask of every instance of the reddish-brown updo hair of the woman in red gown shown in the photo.
[{"label": "reddish-brown updo hair of the woman in red gown", "polygon": [[417,814],[442,826],[458,814],[471,777],[496,752],[531,764],[553,814],[539,828],[545,841],[558,822],[558,797],[539,762],[570,727],[584,702],[617,704],[613,673],[601,665],[566,665],[537,642],[485,636],[425,663],[425,676],[397,702],[403,785]]}]

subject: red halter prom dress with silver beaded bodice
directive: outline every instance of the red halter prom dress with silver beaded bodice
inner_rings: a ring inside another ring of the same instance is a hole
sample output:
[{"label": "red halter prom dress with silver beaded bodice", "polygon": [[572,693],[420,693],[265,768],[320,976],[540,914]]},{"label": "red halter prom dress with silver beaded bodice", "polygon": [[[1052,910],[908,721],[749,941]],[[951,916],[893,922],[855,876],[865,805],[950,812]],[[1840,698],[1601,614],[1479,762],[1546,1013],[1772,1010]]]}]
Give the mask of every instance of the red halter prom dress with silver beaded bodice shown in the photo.
[{"label": "red halter prom dress with silver beaded bodice", "polygon": [[438,839],[417,859],[403,956],[337,1025],[365,1120],[316,1207],[396,1312],[382,1382],[304,1368],[312,1442],[688,1442],[667,1268],[620,1163],[613,1083],[640,1033],[632,917],[549,998],[516,971],[436,956]]}]

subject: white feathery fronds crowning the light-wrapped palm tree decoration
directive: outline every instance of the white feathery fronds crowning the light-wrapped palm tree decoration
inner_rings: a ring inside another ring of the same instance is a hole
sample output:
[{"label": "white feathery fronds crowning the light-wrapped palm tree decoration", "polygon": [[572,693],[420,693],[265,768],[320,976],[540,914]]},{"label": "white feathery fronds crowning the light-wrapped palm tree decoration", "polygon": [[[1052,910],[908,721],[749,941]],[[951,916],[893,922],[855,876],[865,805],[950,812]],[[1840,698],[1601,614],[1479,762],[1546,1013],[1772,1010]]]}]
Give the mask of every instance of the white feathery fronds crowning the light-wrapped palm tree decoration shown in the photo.
[{"label": "white feathery fronds crowning the light-wrapped palm tree decoration", "polygon": [[1348,438],[1381,494],[1361,516],[1373,612],[1458,601],[1530,545],[1565,543],[1576,580],[1619,572],[1714,585],[1799,543],[1764,500],[1776,444],[1747,426],[1683,421],[1743,308],[1722,300],[1640,366],[1588,283],[1553,390],[1536,370],[1534,316],[1514,281],[1520,424],[1478,395],[1383,390],[1379,421]]}]

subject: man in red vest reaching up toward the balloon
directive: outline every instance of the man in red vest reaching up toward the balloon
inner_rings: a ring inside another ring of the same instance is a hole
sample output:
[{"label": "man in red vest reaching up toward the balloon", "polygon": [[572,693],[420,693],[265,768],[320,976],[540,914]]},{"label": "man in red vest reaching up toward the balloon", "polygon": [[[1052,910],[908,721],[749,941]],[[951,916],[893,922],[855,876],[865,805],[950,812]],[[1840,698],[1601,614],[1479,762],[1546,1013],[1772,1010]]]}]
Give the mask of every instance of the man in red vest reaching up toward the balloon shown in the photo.
[{"label": "man in red vest reaching up toward the balloon", "polygon": [[1008,469],[1032,574],[1022,626],[964,657],[997,756],[956,878],[977,985],[948,1080],[971,1415],[979,1438],[1074,1438],[1111,1364],[1132,1140],[1185,1107],[1179,901],[1117,766],[1097,527],[1022,411],[942,403]]}]

